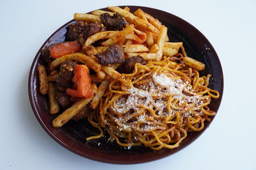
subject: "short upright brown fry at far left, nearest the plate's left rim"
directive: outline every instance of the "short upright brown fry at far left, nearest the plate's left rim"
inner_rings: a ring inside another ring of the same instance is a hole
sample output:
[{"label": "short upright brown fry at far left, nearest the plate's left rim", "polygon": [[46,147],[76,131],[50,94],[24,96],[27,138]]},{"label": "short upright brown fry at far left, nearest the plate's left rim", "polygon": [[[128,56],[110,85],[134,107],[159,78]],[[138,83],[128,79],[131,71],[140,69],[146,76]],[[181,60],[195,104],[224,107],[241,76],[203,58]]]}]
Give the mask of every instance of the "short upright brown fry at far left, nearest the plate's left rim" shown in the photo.
[{"label": "short upright brown fry at far left, nearest the plate's left rim", "polygon": [[38,65],[38,74],[39,74],[39,91],[41,94],[45,95],[48,93],[48,81],[47,81],[47,74],[46,68],[44,65]]}]

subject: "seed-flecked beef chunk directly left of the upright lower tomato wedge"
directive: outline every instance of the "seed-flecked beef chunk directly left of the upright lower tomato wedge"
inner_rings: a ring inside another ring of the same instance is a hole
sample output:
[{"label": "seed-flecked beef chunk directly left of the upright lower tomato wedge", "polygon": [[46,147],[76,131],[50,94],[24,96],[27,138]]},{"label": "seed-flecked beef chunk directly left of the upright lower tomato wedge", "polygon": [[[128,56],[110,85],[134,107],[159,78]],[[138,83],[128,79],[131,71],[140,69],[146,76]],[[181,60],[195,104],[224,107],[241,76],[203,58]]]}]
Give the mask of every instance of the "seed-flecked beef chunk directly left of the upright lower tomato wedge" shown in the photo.
[{"label": "seed-flecked beef chunk directly left of the upright lower tomato wedge", "polygon": [[71,82],[74,77],[73,70],[76,67],[76,62],[67,60],[61,64],[59,74],[67,82]]}]

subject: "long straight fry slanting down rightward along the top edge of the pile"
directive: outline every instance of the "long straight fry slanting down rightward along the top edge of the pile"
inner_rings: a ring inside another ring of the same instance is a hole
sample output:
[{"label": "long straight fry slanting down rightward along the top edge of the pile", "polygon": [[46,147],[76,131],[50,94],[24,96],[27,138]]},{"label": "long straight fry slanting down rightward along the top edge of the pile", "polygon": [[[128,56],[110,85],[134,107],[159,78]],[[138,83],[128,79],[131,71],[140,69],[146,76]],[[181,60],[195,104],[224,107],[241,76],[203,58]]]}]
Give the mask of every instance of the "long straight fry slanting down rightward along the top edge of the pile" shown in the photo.
[{"label": "long straight fry slanting down rightward along the top edge of the pile", "polygon": [[156,33],[156,34],[158,34],[158,32],[159,32],[159,30],[157,28],[155,28],[152,24],[140,19],[139,17],[135,16],[134,14],[131,14],[130,12],[128,12],[122,8],[119,8],[118,6],[108,7],[108,9],[122,15],[129,21],[132,21],[136,26],[143,27],[145,29],[150,30],[153,33]]}]

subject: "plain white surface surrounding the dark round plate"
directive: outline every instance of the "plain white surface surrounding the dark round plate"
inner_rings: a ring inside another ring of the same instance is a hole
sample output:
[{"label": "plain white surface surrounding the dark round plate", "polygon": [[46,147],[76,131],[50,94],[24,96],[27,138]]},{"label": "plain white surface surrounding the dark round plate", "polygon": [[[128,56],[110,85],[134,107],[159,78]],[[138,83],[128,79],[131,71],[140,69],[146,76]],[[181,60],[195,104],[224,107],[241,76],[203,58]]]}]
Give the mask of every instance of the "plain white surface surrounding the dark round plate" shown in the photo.
[{"label": "plain white surface surrounding the dark round plate", "polygon": [[[113,165],[80,157],[56,143],[28,98],[32,60],[75,12],[117,5],[161,9],[191,23],[212,43],[224,72],[215,120],[194,143],[159,161]],[[0,1],[0,170],[256,169],[256,1]]]}]

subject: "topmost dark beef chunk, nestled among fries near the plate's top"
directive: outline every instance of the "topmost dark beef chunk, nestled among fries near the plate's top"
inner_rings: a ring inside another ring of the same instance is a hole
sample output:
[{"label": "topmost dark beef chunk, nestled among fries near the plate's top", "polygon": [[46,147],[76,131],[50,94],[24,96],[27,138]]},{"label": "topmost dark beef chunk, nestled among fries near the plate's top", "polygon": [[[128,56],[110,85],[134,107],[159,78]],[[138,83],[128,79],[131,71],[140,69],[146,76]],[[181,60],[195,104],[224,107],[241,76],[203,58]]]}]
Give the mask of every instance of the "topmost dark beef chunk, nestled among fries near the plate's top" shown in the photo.
[{"label": "topmost dark beef chunk, nestled among fries near the plate's top", "polygon": [[100,20],[109,31],[121,31],[123,28],[125,28],[125,25],[127,24],[125,19],[121,15],[116,13],[113,15],[113,17],[110,16],[110,14],[108,13],[101,14]]}]

